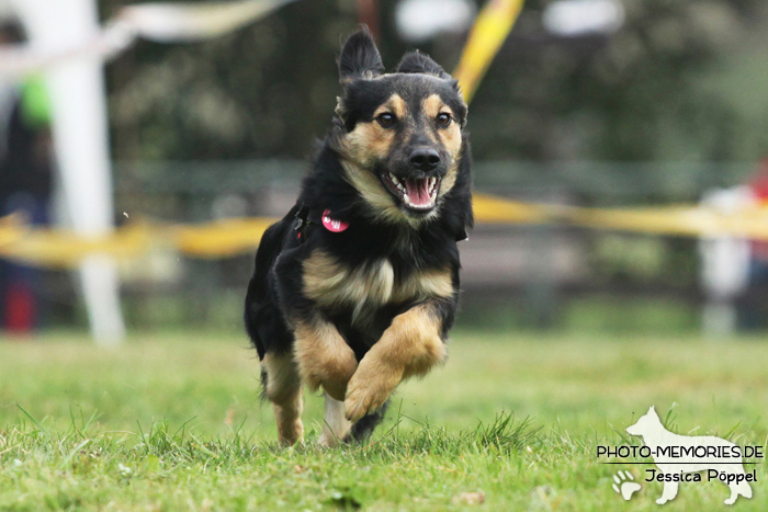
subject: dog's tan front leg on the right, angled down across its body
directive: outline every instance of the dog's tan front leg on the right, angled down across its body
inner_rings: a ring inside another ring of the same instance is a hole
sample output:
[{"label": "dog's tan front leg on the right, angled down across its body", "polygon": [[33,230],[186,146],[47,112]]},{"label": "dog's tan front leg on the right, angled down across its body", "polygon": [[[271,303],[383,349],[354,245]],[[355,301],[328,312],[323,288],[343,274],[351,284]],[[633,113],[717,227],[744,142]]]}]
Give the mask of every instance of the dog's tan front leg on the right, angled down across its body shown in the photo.
[{"label": "dog's tan front leg on the right, angled down across its body", "polygon": [[379,409],[403,379],[423,375],[445,359],[441,309],[437,301],[425,303],[392,320],[349,382],[345,408],[350,421]]}]

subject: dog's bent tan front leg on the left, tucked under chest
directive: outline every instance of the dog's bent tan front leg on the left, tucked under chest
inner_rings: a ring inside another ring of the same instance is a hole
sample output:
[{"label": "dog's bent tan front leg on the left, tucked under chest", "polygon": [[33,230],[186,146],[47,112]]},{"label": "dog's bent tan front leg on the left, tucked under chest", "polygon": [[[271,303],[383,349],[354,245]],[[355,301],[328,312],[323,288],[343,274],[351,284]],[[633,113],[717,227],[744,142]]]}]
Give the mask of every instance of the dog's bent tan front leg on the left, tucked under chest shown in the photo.
[{"label": "dog's bent tan front leg on the left, tucked under chest", "polygon": [[336,326],[315,317],[295,322],[294,335],[294,356],[302,379],[310,389],[323,386],[331,398],[343,400],[358,360]]}]

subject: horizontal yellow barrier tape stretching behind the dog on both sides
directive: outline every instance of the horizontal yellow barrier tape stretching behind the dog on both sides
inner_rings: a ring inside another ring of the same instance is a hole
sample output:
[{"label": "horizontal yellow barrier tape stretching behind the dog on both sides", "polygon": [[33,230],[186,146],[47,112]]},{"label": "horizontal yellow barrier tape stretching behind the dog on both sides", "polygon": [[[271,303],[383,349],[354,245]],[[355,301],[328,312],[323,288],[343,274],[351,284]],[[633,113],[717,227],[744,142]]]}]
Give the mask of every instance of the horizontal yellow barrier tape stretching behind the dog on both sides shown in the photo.
[{"label": "horizontal yellow barrier tape stretching behind the dog on both sides", "polygon": [[[705,206],[584,208],[509,201],[475,194],[478,224],[554,224],[594,229],[685,237],[737,237],[768,241],[768,207],[723,214]],[[224,258],[253,251],[274,218],[239,218],[192,226],[134,223],[104,237],[31,228],[15,217],[0,219],[0,258],[31,265],[74,268],[93,253],[134,259],[151,247],[195,258]]]}]

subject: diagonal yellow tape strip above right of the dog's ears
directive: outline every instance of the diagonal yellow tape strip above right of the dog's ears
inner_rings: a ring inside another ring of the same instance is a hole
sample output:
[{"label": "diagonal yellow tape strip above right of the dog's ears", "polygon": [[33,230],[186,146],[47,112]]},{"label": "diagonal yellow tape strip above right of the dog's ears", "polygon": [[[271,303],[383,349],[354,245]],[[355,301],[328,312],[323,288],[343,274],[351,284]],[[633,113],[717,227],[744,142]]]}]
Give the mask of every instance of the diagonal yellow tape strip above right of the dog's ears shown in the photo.
[{"label": "diagonal yellow tape strip above right of the dog's ears", "polygon": [[470,103],[479,81],[522,12],[523,0],[488,0],[475,20],[453,78]]}]

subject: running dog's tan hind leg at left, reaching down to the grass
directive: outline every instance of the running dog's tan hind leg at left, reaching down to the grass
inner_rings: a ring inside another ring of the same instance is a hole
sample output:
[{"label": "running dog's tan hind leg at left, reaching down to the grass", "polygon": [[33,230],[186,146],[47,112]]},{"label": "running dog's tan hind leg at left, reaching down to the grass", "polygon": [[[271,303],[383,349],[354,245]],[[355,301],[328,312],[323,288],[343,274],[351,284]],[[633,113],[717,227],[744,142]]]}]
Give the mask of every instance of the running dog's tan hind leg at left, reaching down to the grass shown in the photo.
[{"label": "running dog's tan hind leg at left, reaching down to the grass", "polygon": [[304,435],[302,424],[302,380],[291,352],[267,353],[261,361],[267,373],[264,396],[274,406],[280,443],[292,445]]}]

